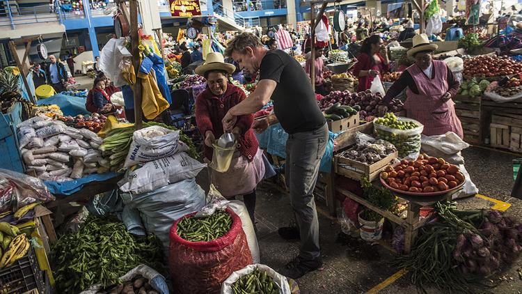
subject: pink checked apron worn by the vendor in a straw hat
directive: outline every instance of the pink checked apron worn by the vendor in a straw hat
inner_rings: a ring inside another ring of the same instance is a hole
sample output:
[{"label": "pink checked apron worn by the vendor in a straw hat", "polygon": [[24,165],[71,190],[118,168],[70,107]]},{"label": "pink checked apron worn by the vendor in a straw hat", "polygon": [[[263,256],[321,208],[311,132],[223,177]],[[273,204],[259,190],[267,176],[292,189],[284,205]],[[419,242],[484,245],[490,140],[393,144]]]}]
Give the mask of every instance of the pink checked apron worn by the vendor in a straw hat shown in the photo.
[{"label": "pink checked apron worn by the vendor in a straw hat", "polygon": [[435,77],[433,79],[416,65],[411,65],[407,70],[417,85],[419,93],[406,90],[406,116],[424,125],[422,134],[434,136],[454,132],[463,138],[462,125],[455,113],[453,100],[443,101],[442,96],[448,92],[448,68],[443,61],[432,61]]}]

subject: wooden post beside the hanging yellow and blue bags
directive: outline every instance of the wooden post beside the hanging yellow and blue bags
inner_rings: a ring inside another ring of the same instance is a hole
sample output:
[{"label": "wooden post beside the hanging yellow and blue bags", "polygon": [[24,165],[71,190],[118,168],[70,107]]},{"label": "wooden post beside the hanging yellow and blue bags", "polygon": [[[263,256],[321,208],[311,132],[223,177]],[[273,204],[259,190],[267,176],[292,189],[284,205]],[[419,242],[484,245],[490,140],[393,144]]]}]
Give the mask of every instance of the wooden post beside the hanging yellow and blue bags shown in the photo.
[{"label": "wooden post beside the hanging yellow and blue bags", "polygon": [[140,40],[138,33],[138,1],[129,0],[130,10],[130,27],[131,27],[131,54],[132,64],[134,65],[134,72],[136,73],[136,83],[134,84],[134,120],[136,123],[136,130],[143,127],[143,111],[141,109],[141,80],[138,77],[140,67],[140,50],[138,48]]}]

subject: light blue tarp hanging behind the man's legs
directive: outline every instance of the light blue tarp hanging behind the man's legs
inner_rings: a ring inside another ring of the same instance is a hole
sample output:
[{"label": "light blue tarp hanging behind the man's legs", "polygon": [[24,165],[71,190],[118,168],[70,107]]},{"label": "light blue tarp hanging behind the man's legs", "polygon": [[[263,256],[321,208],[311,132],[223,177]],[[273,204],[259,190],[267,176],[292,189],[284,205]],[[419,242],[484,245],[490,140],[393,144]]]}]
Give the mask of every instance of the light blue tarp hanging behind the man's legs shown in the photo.
[{"label": "light blue tarp hanging behind the man's legs", "polygon": [[[335,139],[337,136],[338,134],[329,132],[329,141],[328,144],[326,144],[326,150],[324,151],[321,164],[319,165],[319,171],[322,171],[323,173],[331,172],[333,158],[333,139]],[[255,137],[258,138],[259,147],[266,148],[267,153],[271,155],[277,155],[278,157],[282,158],[286,157],[286,141],[288,139],[288,134],[285,132],[285,130],[283,130],[283,127],[281,127],[279,123],[276,125],[271,125],[261,134],[255,134]]]}]

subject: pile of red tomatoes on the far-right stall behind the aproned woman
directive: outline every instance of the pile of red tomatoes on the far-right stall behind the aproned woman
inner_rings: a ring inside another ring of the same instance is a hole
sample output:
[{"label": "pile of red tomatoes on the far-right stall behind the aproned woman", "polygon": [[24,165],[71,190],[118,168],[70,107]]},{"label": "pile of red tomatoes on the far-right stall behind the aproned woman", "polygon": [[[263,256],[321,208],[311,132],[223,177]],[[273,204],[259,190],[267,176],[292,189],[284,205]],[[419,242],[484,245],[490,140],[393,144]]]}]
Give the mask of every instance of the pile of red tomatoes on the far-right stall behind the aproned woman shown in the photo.
[{"label": "pile of red tomatoes on the far-right stall behind the aproned woman", "polygon": [[522,63],[507,56],[481,55],[464,60],[463,74],[468,77],[499,77],[520,72],[522,72]]}]

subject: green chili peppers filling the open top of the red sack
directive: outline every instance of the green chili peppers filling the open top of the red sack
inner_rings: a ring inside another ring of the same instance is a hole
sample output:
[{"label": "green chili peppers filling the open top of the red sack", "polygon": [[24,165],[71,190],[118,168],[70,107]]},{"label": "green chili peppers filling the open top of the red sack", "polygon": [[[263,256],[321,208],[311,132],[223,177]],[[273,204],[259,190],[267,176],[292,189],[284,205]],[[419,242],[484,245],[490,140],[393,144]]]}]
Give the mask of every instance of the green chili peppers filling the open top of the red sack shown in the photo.
[{"label": "green chili peppers filling the open top of the red sack", "polygon": [[230,231],[232,218],[227,212],[216,211],[209,217],[184,217],[177,223],[176,233],[191,242],[209,242]]}]

